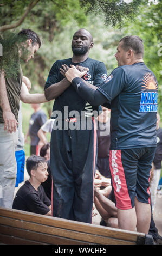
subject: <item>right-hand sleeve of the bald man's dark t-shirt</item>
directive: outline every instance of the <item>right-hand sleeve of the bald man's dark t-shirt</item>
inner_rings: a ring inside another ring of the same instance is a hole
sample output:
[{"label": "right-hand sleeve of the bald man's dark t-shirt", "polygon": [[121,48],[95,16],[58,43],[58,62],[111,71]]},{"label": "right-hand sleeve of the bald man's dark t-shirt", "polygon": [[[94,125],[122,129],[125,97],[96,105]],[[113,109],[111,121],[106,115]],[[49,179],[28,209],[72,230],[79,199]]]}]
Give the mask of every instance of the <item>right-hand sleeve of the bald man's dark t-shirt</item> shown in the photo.
[{"label": "right-hand sleeve of the bald man's dark t-shirt", "polygon": [[94,86],[99,87],[101,83],[105,82],[107,77],[107,69],[103,62],[99,62],[98,68],[95,70]]}]

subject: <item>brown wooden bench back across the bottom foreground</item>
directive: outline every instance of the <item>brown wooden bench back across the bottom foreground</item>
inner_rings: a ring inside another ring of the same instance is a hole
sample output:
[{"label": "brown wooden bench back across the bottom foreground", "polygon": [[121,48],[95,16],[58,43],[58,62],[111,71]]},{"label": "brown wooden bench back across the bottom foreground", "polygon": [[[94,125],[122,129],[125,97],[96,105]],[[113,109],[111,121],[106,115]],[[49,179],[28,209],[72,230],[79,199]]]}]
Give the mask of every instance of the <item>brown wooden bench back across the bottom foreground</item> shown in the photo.
[{"label": "brown wooden bench back across the bottom foreground", "polygon": [[0,208],[0,243],[8,245],[138,245],[152,236]]}]

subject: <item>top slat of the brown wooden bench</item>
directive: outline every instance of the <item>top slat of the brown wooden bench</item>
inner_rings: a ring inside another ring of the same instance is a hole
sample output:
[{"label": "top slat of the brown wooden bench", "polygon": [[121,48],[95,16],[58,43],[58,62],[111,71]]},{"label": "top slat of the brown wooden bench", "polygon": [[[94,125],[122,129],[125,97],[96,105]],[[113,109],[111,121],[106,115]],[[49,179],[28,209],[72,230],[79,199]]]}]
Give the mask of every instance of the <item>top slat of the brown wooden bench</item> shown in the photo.
[{"label": "top slat of the brown wooden bench", "polygon": [[81,223],[76,221],[64,220],[50,216],[42,216],[30,212],[24,212],[14,209],[0,208],[0,216],[7,216],[17,220],[35,222],[39,224],[49,225],[50,227],[63,228],[64,230],[80,231],[86,234],[95,234],[100,236],[112,237],[112,239],[121,239],[126,241],[137,242],[138,237],[145,237],[145,234],[133,231],[114,229],[108,227],[100,227],[94,224]]}]

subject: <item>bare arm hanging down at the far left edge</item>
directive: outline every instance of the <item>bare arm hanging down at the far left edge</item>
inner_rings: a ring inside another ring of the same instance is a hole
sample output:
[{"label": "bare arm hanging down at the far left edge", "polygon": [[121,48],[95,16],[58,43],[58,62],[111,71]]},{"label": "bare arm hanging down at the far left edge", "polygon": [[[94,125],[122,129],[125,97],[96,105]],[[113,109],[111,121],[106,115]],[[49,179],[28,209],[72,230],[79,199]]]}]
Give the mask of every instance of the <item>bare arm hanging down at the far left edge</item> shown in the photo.
[{"label": "bare arm hanging down at the far left edge", "polygon": [[11,112],[3,71],[0,74],[0,106],[3,111],[4,130],[8,128],[8,133],[16,132],[18,122]]}]

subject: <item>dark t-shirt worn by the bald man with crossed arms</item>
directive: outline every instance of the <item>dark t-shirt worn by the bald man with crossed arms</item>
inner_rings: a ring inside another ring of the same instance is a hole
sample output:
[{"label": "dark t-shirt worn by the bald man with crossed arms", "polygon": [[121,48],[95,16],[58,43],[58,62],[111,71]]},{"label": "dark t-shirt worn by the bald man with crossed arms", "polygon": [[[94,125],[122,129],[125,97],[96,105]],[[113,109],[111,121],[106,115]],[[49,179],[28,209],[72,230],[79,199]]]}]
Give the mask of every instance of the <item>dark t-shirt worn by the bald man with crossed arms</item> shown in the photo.
[{"label": "dark t-shirt worn by the bald man with crossed arms", "polygon": [[[106,66],[103,62],[99,62],[98,60],[94,60],[91,58],[87,58],[84,62],[80,63],[73,63],[72,58],[69,59],[63,59],[63,60],[57,60],[48,75],[47,82],[45,84],[44,89],[51,86],[51,84],[60,82],[63,80],[64,76],[60,73],[60,68],[62,68],[62,65],[66,64],[68,66],[70,65],[80,65],[85,66],[89,68],[89,71],[85,76],[82,78],[89,82],[90,84],[94,84],[95,86],[99,86],[103,81],[107,78],[107,70]],[[62,116],[64,113],[64,107],[69,112],[71,111],[77,111],[81,115],[81,111],[102,111],[101,107],[93,107],[89,103],[87,103],[85,100],[82,99],[82,97],[77,94],[74,87],[72,85],[69,86],[60,96],[58,96],[54,101],[53,111],[61,111]],[[51,118],[53,118],[54,115],[52,115]],[[55,117],[54,117],[55,118]]]}]

